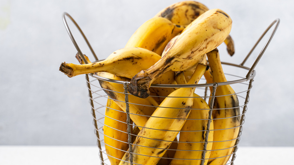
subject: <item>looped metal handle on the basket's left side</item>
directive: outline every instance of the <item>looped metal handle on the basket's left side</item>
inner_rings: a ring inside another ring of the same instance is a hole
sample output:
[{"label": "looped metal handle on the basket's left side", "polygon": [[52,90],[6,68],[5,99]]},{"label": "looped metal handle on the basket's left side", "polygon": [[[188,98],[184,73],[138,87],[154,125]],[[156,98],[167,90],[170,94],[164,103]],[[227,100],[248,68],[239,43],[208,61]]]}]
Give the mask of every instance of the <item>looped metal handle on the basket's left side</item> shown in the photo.
[{"label": "looped metal handle on the basket's left side", "polygon": [[83,36],[84,40],[86,41],[88,47],[90,48],[94,58],[96,61],[98,61],[98,58],[93,50],[93,48],[90,45],[90,42],[88,41],[88,39],[86,38],[85,34],[83,33],[83,31],[81,30],[81,28],[78,26],[78,24],[76,23],[76,21],[74,20],[74,18],[72,18],[68,13],[64,12],[62,14],[62,19],[63,19],[63,23],[64,26],[66,28],[67,33],[69,33],[69,37],[71,38],[71,41],[73,42],[74,46],[76,47],[76,50],[78,51],[78,54],[81,56],[81,58],[83,59],[83,61],[85,62],[85,64],[88,64],[87,60],[85,59],[85,56],[83,55],[83,53],[81,52],[81,49],[78,47],[78,44],[76,43],[76,40],[74,39],[74,36],[71,34],[71,30],[69,29],[69,25],[66,22],[65,16],[68,16],[69,19],[71,19],[71,21],[76,25],[76,27],[78,28],[78,30],[80,31],[81,35]]}]

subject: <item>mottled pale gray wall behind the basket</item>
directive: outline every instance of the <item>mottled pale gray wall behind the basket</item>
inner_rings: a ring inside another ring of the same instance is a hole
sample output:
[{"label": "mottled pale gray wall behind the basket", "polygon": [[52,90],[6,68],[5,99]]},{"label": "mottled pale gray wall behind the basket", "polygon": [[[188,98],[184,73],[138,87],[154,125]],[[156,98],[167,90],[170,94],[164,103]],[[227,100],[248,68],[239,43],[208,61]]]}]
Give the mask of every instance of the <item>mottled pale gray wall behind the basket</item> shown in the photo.
[{"label": "mottled pale gray wall behind the basket", "polygon": [[[68,78],[58,70],[61,62],[77,63],[63,12],[77,21],[98,58],[104,59],[124,47],[143,22],[175,2],[1,0],[0,144],[96,145],[84,76]],[[294,1],[200,2],[224,10],[233,20],[236,54],[223,56],[226,62],[241,63],[268,25],[280,18],[278,31],[255,68],[240,145],[294,146]],[[90,55],[68,23],[82,52]]]}]

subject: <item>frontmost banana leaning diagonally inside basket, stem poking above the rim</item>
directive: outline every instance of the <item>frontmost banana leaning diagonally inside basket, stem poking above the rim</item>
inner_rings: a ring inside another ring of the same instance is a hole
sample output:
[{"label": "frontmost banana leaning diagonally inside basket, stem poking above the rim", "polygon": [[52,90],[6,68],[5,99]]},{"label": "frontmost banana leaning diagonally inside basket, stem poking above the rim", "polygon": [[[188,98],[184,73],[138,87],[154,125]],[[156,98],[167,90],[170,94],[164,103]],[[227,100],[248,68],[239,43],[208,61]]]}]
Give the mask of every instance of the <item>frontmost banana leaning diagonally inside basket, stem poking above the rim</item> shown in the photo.
[{"label": "frontmost banana leaning diagonally inside basket, stem poking above the rim", "polygon": [[[208,66],[198,64],[187,84],[197,84]],[[166,153],[173,140],[182,129],[193,106],[195,87],[179,88],[166,97],[142,130],[132,146],[134,164],[157,164]],[[123,156],[119,165],[130,164],[129,152]]]}]

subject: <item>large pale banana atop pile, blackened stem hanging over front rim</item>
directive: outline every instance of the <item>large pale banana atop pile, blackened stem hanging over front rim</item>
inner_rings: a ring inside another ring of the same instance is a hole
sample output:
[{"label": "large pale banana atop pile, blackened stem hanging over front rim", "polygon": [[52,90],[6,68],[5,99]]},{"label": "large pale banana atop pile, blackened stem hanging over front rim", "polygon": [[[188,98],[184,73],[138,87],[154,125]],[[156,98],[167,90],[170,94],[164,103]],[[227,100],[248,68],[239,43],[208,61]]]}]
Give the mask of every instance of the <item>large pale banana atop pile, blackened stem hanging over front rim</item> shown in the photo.
[{"label": "large pale banana atop pile, blackened stem hanging over front rim", "polygon": [[148,97],[148,89],[155,79],[165,72],[183,71],[199,63],[207,52],[225,40],[231,27],[230,16],[220,9],[211,9],[201,14],[172,42],[158,62],[133,76],[128,86],[129,93],[141,98]]}]

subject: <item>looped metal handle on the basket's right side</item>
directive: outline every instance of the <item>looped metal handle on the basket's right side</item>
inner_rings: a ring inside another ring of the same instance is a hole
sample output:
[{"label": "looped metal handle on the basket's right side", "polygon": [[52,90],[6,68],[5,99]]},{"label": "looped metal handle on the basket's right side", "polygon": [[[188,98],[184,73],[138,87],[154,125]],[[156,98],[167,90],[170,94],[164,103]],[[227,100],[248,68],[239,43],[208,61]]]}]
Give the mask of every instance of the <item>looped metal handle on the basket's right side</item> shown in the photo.
[{"label": "looped metal handle on the basket's right side", "polygon": [[270,43],[270,41],[272,40],[275,32],[277,31],[277,28],[280,24],[280,19],[277,18],[275,21],[273,21],[268,28],[263,32],[263,34],[260,36],[260,38],[258,39],[258,41],[255,43],[255,45],[253,46],[253,48],[250,50],[250,52],[248,53],[248,55],[245,57],[245,59],[243,60],[243,62],[240,64],[241,66],[244,65],[244,63],[246,62],[246,60],[248,59],[248,57],[251,55],[251,53],[253,52],[253,50],[255,49],[255,47],[258,45],[258,43],[260,42],[260,40],[264,37],[264,35],[268,32],[268,30],[274,25],[275,28],[273,29],[273,32],[271,33],[270,37],[268,38],[267,42],[265,43],[265,45],[263,46],[261,52],[259,53],[258,57],[256,58],[255,62],[253,63],[252,67],[249,69],[247,75],[246,75],[246,79],[247,81],[250,79],[250,75],[252,74],[254,68],[256,67],[258,61],[260,60],[261,56],[263,55],[263,53],[265,52],[266,48],[268,47],[268,44]]}]

